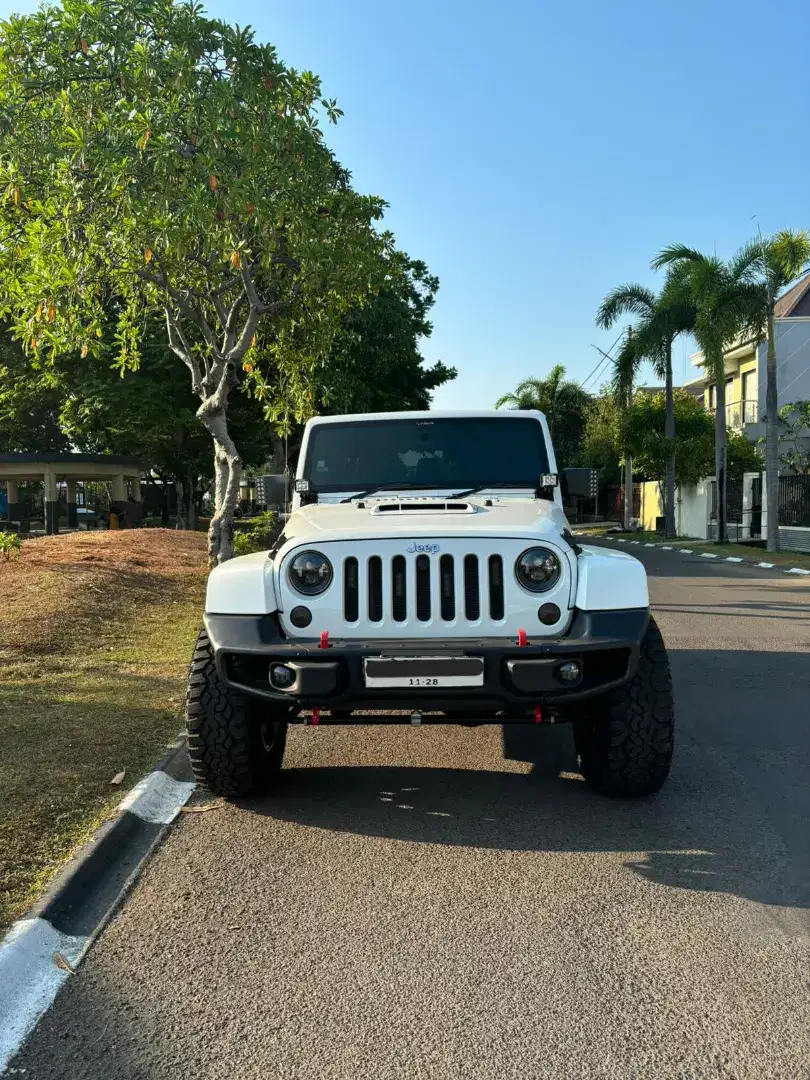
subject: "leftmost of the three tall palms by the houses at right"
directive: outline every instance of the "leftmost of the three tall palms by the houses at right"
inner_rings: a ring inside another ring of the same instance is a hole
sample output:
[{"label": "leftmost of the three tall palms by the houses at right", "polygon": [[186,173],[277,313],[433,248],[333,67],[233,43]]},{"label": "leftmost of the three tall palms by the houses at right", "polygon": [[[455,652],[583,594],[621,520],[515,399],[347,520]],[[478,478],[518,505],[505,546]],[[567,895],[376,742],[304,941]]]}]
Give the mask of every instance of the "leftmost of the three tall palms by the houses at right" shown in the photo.
[{"label": "leftmost of the three tall palms by the houses at right", "polygon": [[[642,361],[649,361],[664,379],[666,419],[664,434],[670,446],[665,480],[665,532],[675,536],[675,403],[672,393],[672,346],[678,334],[693,329],[697,308],[690,280],[681,267],[673,267],[658,296],[644,285],[619,285],[608,293],[596,313],[596,324],[606,329],[621,314],[637,315],[625,345],[615,361],[619,400],[631,403],[633,381]],[[625,514],[626,516],[626,514]]]}]

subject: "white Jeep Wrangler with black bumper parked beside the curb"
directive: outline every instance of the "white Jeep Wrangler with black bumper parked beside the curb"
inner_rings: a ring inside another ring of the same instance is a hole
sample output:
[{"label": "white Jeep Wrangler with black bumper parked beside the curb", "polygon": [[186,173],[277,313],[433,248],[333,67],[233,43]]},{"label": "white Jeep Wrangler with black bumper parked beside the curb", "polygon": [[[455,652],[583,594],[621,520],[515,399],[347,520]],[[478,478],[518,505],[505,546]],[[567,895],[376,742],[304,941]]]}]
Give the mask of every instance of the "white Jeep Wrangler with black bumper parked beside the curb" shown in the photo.
[{"label": "white Jeep Wrangler with black bumper parked beside the curb", "polygon": [[272,786],[296,721],[569,720],[607,795],[670,770],[644,567],[575,541],[540,413],[310,420],[283,534],[212,572],[204,622],[188,744],[229,797]]}]

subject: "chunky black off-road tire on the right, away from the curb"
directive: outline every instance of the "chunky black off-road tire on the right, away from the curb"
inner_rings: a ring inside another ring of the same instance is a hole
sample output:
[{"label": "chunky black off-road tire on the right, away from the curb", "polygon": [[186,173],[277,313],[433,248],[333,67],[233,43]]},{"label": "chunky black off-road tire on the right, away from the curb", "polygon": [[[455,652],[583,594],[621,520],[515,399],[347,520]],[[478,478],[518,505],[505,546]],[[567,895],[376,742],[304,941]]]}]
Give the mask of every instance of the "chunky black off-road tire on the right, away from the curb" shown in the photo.
[{"label": "chunky black off-road tire on the right, away from the curb", "polygon": [[670,663],[650,619],[633,678],[583,702],[573,717],[582,775],[603,795],[652,795],[670,773],[674,732]]}]

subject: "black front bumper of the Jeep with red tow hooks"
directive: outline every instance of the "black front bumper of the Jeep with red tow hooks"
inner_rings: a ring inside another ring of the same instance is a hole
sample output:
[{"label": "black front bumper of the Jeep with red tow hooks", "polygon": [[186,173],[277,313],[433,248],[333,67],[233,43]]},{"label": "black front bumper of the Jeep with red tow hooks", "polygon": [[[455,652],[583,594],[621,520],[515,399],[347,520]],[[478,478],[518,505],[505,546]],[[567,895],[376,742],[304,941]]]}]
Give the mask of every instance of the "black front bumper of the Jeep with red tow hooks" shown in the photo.
[{"label": "black front bumper of the Jeep with red tow hooks", "polygon": [[[315,705],[330,711],[423,711],[505,713],[525,716],[537,705],[567,702],[603,693],[632,677],[647,630],[649,611],[577,611],[564,637],[455,638],[426,640],[335,639],[326,649],[316,639],[284,637],[278,616],[206,615],[217,670],[237,690],[255,699],[296,710]],[[364,660],[379,657],[480,657],[484,683],[475,687],[430,689],[370,688]],[[572,686],[559,677],[559,665],[577,660],[581,677]],[[289,690],[270,686],[272,664],[289,665]]]}]

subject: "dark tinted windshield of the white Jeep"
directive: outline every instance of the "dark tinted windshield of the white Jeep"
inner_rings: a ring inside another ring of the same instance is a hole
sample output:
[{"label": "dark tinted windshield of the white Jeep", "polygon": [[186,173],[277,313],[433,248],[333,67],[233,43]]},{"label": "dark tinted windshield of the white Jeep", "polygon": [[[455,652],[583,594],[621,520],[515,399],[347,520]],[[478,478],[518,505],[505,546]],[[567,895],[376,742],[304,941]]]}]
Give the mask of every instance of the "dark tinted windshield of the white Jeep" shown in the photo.
[{"label": "dark tinted windshield of the white Jeep", "polygon": [[549,471],[543,431],[526,417],[354,420],[319,424],[303,476],[313,491],[396,487],[537,487]]}]

